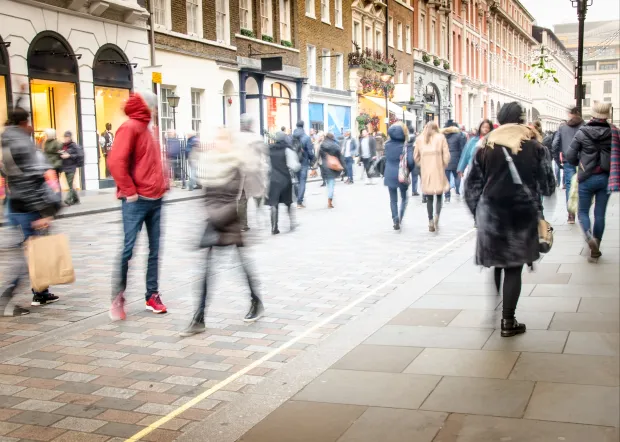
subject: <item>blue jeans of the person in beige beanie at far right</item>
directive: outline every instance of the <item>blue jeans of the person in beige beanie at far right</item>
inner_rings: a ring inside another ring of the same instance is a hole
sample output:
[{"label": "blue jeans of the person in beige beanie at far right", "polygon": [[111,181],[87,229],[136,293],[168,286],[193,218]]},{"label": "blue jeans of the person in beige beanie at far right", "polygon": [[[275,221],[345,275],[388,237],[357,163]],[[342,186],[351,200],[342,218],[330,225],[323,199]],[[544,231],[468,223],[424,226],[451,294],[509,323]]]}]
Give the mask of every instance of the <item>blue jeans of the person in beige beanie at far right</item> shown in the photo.
[{"label": "blue jeans of the person in beige beanie at far right", "polygon": [[[566,169],[564,169],[566,170]],[[586,238],[594,236],[596,239],[603,239],[605,231],[605,212],[607,211],[607,184],[609,175],[598,173],[582,183],[579,183],[579,224],[585,233]],[[590,222],[590,203],[594,197],[594,230],[591,230]]]}]

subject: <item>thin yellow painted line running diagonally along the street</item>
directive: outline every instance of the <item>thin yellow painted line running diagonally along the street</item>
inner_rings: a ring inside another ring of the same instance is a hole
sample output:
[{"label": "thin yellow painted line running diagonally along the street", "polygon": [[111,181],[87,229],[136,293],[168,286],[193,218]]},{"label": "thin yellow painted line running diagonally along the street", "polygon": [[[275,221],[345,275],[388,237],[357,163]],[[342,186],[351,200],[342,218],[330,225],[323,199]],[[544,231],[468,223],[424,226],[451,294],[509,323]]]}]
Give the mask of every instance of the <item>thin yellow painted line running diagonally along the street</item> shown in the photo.
[{"label": "thin yellow painted line running diagonally along the street", "polygon": [[190,401],[186,402],[185,404],[181,405],[179,408],[177,408],[176,410],[171,411],[170,413],[168,413],[166,416],[163,416],[161,419],[153,422],[151,425],[149,425],[148,427],[144,428],[142,431],[137,432],[136,434],[134,434],[133,436],[131,436],[129,439],[126,439],[125,442],[135,442],[135,441],[139,441],[140,439],[142,439],[144,436],[152,433],[153,431],[155,431],[156,429],[158,429],[159,427],[161,427],[162,425],[164,425],[165,423],[171,421],[172,419],[174,419],[175,417],[177,417],[178,415],[180,415],[181,413],[183,413],[184,411],[189,410],[190,408],[192,408],[194,405],[199,404],[200,402],[202,402],[203,400],[207,399],[209,396],[211,396],[213,393],[218,392],[219,390],[221,390],[222,388],[226,387],[228,384],[230,384],[231,382],[234,382],[235,380],[239,379],[241,376],[249,373],[250,371],[252,371],[253,369],[255,369],[256,367],[259,367],[261,364],[263,364],[264,362],[269,361],[271,358],[273,358],[274,356],[278,355],[279,353],[281,353],[283,350],[286,350],[287,348],[291,347],[292,345],[296,344],[297,342],[301,341],[302,339],[304,339],[305,337],[307,337],[308,335],[314,333],[316,330],[318,330],[319,328],[329,324],[330,322],[332,322],[334,319],[336,319],[338,316],[343,315],[344,313],[346,313],[347,311],[349,311],[350,309],[352,309],[353,307],[355,307],[356,305],[360,304],[361,302],[365,301],[366,299],[368,299],[369,297],[371,297],[372,295],[374,295],[375,293],[377,293],[379,290],[381,290],[382,288],[386,287],[387,285],[393,283],[394,281],[396,281],[399,278],[402,278],[403,276],[405,276],[407,273],[411,272],[413,269],[415,269],[416,267],[424,264],[426,261],[428,261],[429,259],[433,258],[435,255],[438,255],[439,253],[443,252],[445,249],[448,249],[450,247],[452,247],[454,244],[458,243],[459,241],[461,241],[462,239],[466,238],[467,236],[469,236],[471,233],[475,232],[476,229],[471,229],[468,230],[467,232],[463,233],[462,235],[460,235],[459,237],[453,239],[452,241],[450,241],[447,244],[444,244],[442,247],[440,247],[439,249],[435,250],[433,253],[431,253],[430,255],[426,256],[425,258],[422,258],[420,261],[410,265],[409,267],[407,267],[405,270],[403,270],[402,272],[398,273],[397,275],[391,277],[390,279],[388,279],[385,282],[382,282],[381,284],[379,284],[377,287],[375,287],[374,289],[371,289],[370,291],[368,291],[365,295],[362,295],[361,297],[357,298],[355,301],[351,302],[349,305],[344,306],[343,308],[341,308],[340,310],[338,310],[336,313],[332,314],[331,316],[323,319],[320,322],[317,322],[316,324],[314,324],[312,327],[310,327],[309,329],[307,329],[306,331],[304,331],[303,333],[301,333],[299,336],[294,337],[293,339],[291,339],[290,341],[285,342],[284,344],[282,344],[281,346],[279,346],[278,348],[274,349],[273,351],[267,353],[265,356],[263,356],[260,359],[257,359],[256,361],[252,362],[250,365],[248,365],[245,368],[242,368],[241,370],[239,370],[238,372],[232,374],[231,376],[229,376],[228,378],[224,379],[223,381],[219,382],[218,384],[214,385],[213,387],[209,388],[208,390],[202,392],[201,394],[199,394],[198,396],[194,397],[193,399],[191,399]]}]

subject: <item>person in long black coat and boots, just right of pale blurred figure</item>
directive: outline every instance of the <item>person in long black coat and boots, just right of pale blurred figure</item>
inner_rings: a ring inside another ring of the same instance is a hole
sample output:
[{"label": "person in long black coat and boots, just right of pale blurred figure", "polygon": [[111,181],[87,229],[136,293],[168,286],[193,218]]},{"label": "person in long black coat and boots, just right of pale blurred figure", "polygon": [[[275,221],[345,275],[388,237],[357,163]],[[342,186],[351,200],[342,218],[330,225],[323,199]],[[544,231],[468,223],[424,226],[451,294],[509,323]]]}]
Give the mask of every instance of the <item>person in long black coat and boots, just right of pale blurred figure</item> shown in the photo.
[{"label": "person in long black coat and boots, just right of pale blurred figure", "polygon": [[271,173],[269,176],[269,197],[267,205],[271,210],[271,234],[280,233],[278,228],[279,208],[280,204],[286,206],[288,212],[290,229],[295,229],[295,214],[293,213],[293,180],[291,172],[286,162],[286,150],[292,150],[289,138],[284,132],[278,132],[275,136],[275,143],[269,148],[269,161],[271,164]]}]

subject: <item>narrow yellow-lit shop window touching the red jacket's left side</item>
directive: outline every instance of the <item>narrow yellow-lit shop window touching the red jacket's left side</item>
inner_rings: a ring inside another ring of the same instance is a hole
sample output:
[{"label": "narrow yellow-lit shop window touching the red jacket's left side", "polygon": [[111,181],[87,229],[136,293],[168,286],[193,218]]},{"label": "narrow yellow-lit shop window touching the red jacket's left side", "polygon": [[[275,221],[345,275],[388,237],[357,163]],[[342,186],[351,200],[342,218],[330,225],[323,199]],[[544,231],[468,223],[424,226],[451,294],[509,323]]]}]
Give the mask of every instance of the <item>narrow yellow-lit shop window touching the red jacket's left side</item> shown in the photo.
[{"label": "narrow yellow-lit shop window touching the red jacket's left side", "polygon": [[129,90],[127,89],[95,86],[99,179],[110,178],[106,159],[110,150],[114,148],[116,129],[127,119],[123,107],[128,98]]}]

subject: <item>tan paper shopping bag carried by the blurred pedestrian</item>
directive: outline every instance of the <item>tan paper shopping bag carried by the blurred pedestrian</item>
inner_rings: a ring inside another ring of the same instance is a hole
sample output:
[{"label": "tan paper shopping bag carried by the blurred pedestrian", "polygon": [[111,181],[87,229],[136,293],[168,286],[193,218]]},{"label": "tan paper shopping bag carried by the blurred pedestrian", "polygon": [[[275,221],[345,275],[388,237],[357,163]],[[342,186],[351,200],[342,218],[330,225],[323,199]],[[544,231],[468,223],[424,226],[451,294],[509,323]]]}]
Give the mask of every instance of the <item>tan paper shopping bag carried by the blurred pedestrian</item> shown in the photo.
[{"label": "tan paper shopping bag carried by the blurred pedestrian", "polygon": [[51,285],[75,281],[75,272],[66,235],[31,237],[26,242],[30,283],[35,292]]}]

